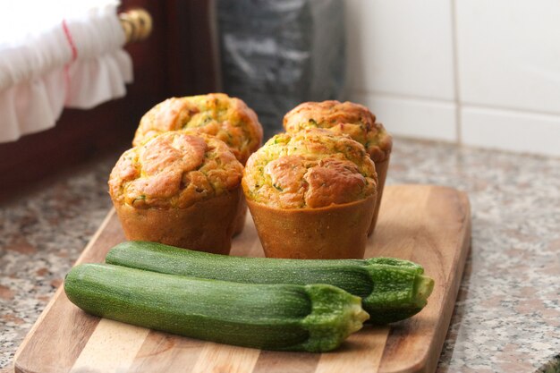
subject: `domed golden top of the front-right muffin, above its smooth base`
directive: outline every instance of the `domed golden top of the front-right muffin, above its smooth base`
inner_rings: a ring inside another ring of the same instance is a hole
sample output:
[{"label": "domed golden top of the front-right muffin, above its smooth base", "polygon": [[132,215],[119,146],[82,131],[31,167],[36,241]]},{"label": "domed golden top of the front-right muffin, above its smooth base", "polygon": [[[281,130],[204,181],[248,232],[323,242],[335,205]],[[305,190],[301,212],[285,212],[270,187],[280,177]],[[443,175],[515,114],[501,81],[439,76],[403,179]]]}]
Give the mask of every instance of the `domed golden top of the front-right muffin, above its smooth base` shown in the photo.
[{"label": "domed golden top of the front-right muffin, above its smooth base", "polygon": [[364,147],[323,129],[281,133],[259,148],[243,172],[245,197],[274,208],[325,208],[377,192]]}]

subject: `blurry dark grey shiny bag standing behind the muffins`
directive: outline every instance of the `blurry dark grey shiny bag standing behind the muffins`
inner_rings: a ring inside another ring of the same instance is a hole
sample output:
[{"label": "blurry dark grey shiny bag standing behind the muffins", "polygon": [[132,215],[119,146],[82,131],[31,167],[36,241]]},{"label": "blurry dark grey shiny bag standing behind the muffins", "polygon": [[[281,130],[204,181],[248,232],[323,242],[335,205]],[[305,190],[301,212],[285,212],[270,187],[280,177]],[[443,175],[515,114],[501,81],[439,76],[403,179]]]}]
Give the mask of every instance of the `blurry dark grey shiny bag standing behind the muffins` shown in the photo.
[{"label": "blurry dark grey shiny bag standing behind the muffins", "polygon": [[344,99],[342,0],[216,0],[222,85],[259,114],[265,138],[304,101]]}]

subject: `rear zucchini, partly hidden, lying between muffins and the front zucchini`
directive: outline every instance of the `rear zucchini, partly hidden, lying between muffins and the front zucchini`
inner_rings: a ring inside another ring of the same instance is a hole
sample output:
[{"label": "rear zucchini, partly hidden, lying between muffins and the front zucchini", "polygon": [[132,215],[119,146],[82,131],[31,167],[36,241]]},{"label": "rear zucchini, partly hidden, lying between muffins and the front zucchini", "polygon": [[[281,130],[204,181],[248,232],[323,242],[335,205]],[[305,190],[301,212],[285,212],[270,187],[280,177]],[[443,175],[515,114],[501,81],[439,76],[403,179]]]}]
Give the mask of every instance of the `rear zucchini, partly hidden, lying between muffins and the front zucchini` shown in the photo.
[{"label": "rear zucchini, partly hidden, lying between muffins and the front zucchini", "polygon": [[178,249],[156,242],[122,242],[106,262],[170,275],[252,284],[331,284],[362,298],[369,322],[388,324],[420,312],[434,280],[408,260],[242,258]]}]

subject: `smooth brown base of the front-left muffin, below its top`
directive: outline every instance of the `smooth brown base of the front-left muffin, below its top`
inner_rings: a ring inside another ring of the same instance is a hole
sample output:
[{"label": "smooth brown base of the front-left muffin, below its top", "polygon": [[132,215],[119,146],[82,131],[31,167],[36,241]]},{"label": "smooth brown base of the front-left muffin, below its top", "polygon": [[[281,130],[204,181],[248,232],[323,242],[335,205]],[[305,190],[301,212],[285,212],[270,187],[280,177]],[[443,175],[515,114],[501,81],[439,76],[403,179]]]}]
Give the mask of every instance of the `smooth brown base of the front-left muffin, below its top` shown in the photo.
[{"label": "smooth brown base of the front-left muffin, below its top", "polygon": [[115,204],[129,241],[161,242],[184,249],[229,254],[241,187],[188,208],[132,208]]}]

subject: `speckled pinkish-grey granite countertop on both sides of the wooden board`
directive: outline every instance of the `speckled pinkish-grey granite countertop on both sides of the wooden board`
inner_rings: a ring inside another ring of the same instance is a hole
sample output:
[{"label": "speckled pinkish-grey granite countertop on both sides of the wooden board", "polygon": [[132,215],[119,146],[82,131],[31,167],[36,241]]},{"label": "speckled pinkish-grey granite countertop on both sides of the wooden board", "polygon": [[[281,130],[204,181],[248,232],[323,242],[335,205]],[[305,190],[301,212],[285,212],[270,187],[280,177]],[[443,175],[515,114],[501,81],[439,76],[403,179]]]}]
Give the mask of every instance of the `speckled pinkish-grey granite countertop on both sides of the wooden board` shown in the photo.
[{"label": "speckled pinkish-grey granite countertop on both sides of the wooden board", "polygon": [[[403,139],[394,148],[388,184],[448,185],[471,199],[472,249],[437,372],[532,373],[547,361],[560,371],[560,159]],[[118,155],[0,202],[0,370],[12,371],[111,208]]]}]

